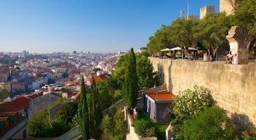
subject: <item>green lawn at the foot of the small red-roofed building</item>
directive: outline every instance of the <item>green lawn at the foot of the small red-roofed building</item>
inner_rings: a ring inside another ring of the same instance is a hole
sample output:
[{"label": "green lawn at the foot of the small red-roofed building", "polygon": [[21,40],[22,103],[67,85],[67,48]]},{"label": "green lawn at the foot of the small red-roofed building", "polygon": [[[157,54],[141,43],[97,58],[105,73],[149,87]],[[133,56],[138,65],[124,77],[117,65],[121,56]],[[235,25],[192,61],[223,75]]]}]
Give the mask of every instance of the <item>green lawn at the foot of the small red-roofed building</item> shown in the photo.
[{"label": "green lawn at the foot of the small red-roofed building", "polygon": [[[146,112],[139,112],[138,119],[151,120],[148,117],[148,114],[146,114]],[[153,124],[154,124],[154,127],[156,127],[157,139],[165,139],[165,129],[168,127],[169,123],[153,123]]]}]

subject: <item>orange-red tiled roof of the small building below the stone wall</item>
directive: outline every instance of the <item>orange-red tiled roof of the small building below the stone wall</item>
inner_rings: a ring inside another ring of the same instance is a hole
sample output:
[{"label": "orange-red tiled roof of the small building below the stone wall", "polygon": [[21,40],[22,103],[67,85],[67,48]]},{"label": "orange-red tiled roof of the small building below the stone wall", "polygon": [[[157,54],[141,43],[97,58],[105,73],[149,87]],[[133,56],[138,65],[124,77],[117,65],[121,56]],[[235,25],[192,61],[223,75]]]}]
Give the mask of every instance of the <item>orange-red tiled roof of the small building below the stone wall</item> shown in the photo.
[{"label": "orange-red tiled roof of the small building below the stone wall", "polygon": [[[158,94],[158,96],[157,96]],[[150,98],[154,99],[154,101],[166,101],[166,100],[173,100],[175,97],[174,94],[167,92],[167,90],[164,91],[159,91],[158,93],[156,92],[151,92],[151,93],[146,93]]]}]

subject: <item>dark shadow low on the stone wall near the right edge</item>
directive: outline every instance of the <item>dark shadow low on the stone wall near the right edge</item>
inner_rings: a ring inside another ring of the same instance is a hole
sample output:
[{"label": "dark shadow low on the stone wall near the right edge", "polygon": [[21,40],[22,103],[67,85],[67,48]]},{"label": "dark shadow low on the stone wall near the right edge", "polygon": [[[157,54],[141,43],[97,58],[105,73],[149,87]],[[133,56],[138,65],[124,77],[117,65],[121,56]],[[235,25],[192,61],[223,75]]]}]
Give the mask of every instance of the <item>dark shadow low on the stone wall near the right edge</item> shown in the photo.
[{"label": "dark shadow low on the stone wall near the right edge", "polygon": [[238,130],[251,130],[255,128],[255,125],[249,120],[246,114],[231,114],[231,120],[233,120]]}]

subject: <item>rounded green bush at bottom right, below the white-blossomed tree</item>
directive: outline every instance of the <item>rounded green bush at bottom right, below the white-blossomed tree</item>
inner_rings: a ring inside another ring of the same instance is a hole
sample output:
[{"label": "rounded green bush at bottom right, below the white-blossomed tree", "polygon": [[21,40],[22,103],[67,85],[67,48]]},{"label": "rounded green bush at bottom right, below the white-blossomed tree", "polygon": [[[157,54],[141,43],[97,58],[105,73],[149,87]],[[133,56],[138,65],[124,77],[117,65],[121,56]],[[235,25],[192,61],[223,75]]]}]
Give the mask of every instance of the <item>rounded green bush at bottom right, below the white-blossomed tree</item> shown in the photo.
[{"label": "rounded green bush at bottom right, below the white-blossomed tree", "polygon": [[235,127],[227,112],[218,107],[208,107],[184,121],[184,139],[235,139]]}]

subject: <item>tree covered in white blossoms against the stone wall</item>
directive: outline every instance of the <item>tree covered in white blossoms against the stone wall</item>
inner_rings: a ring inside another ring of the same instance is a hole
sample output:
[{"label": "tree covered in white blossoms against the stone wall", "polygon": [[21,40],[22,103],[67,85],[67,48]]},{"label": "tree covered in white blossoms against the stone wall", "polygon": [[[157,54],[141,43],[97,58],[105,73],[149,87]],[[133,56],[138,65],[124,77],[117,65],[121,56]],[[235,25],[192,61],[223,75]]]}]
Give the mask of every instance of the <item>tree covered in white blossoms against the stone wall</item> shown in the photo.
[{"label": "tree covered in white blossoms against the stone wall", "polygon": [[175,115],[175,119],[171,121],[174,127],[176,137],[183,139],[182,128],[185,120],[189,119],[193,115],[197,114],[206,107],[215,105],[214,98],[211,96],[211,91],[194,86],[194,90],[184,90],[174,98],[172,113]]}]

